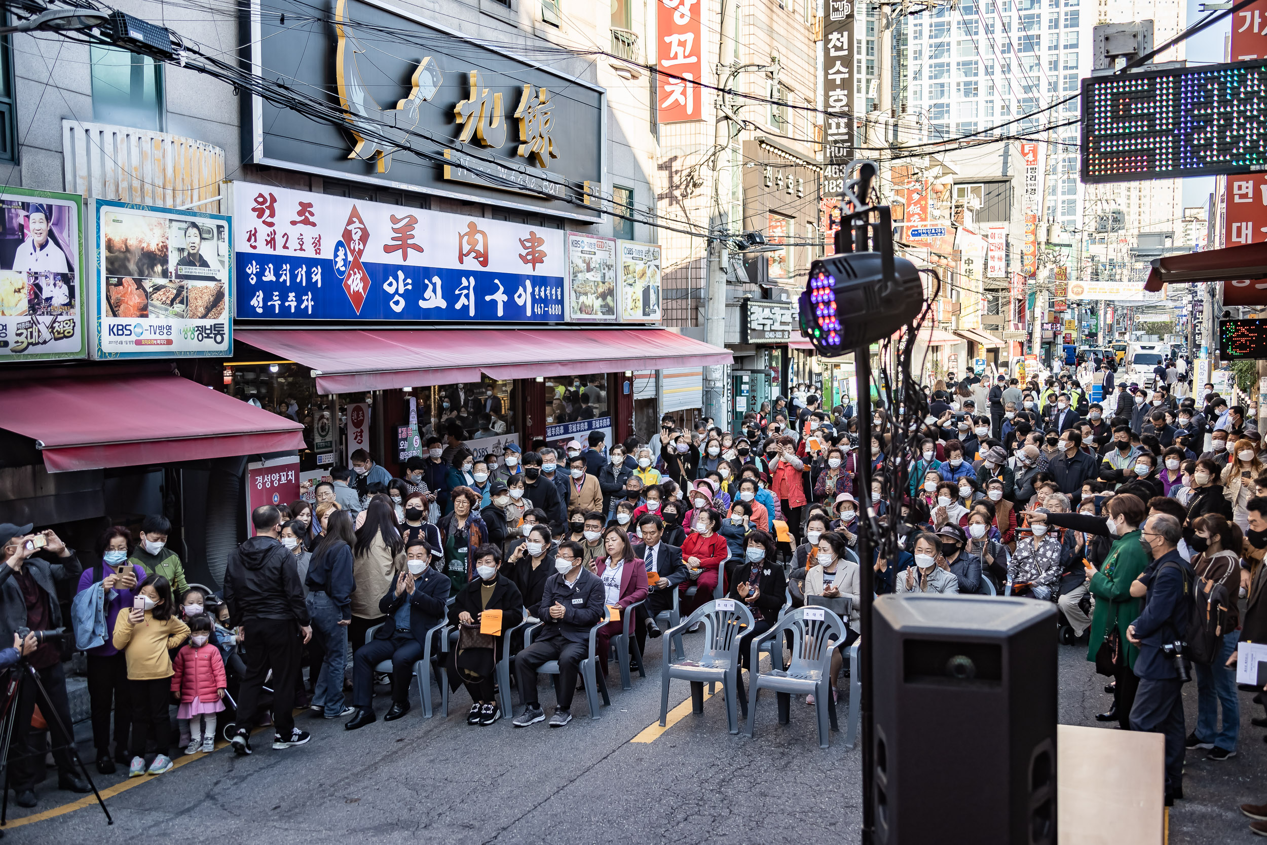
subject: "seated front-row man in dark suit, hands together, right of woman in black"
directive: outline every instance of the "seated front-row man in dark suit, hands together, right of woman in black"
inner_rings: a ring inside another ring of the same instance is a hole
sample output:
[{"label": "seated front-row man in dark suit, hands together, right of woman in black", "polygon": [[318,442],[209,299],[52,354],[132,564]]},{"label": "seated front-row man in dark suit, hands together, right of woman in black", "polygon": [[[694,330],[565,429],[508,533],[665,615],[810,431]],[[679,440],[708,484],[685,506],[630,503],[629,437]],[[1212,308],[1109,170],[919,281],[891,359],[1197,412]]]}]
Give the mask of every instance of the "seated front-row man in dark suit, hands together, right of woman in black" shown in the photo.
[{"label": "seated front-row man in dark suit, hands together, right of woman in black", "polygon": [[[541,604],[533,616],[542,625],[532,645],[514,656],[514,673],[519,679],[523,712],[511,722],[527,727],[546,717],[537,702],[537,669],[551,660],[559,661],[559,707],[550,718],[550,727],[563,727],[571,721],[571,697],[576,692],[580,661],[589,656],[589,628],[603,619],[606,592],[598,575],[585,569],[582,559],[571,569],[556,571],[546,579]],[[555,569],[566,566],[556,560]]]}]

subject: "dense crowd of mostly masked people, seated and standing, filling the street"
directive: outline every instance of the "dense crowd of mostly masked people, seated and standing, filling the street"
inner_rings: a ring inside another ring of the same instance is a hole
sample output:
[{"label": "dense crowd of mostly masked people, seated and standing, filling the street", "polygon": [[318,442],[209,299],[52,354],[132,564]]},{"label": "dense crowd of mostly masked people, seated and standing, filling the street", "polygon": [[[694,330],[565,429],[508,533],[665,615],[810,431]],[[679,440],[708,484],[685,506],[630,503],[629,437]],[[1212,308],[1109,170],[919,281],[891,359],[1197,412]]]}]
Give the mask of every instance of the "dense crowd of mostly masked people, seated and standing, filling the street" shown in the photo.
[{"label": "dense crowd of mostly masked people, seated and standing, filling the street", "polygon": [[[791,400],[745,414],[735,432],[711,419],[683,429],[666,416],[649,441],[608,445],[599,431],[587,442],[511,443],[476,456],[455,429],[427,438],[426,455],[409,459],[402,478],[361,450],[315,485],[312,500],[253,512],[253,536],[231,555],[218,594],[188,583],[162,517],[147,518],[137,536],[110,528],[98,543],[100,562],[82,570],[51,532],[30,549],[29,538],[46,535],[0,526],[11,537],[0,618],[13,628],[0,637],[8,642],[23,623],[56,627],[52,581],[77,580],[85,598],[75,603],[76,635],[96,633],[91,646],[81,640],[96,765],[161,774],[172,765],[162,730],[169,704],[179,707],[189,754],[210,747],[226,706],[237,753],[250,754],[251,730],[270,720],[272,747],[285,749],[309,740],[294,706],[346,718],[347,730],[375,722],[384,661],[393,669],[383,718],[405,716],[424,654],[443,661],[452,689],[466,688],[468,723],[512,717],[497,694],[503,636],[525,702],[513,725],[546,718],[537,671],[557,661],[550,726],[561,727],[604,607],[635,608],[632,669],[646,640],[661,636],[656,617],[674,598],[682,618],[716,595],[745,602],[751,633],[789,603],[831,603],[850,628],[836,644],[844,649],[858,636],[867,565],[877,594],[1054,603],[1064,642],[1085,647],[1111,678],[1112,703],[1096,718],[1166,734],[1173,801],[1182,797],[1185,751],[1214,761],[1237,753],[1237,642],[1258,641],[1267,628],[1258,600],[1267,465],[1253,409],[1209,384],[1181,398],[1194,391],[1164,372],[1152,389],[1115,375],[1111,360],[1025,383],[948,374],[912,403],[919,419],[901,404],[877,407],[869,442],[859,442],[851,405],[825,409],[801,386]],[[893,445],[898,433],[905,454]],[[859,560],[863,498],[881,531],[900,537],[896,554]],[[1197,608],[1214,619],[1207,631],[1194,625]],[[622,631],[611,618],[598,631],[602,675]],[[538,623],[528,639],[525,619]],[[445,623],[452,646],[428,644]],[[1196,642],[1176,655],[1185,640]],[[14,647],[16,655],[28,644]],[[46,649],[29,660],[52,680],[61,664]],[[1181,701],[1186,661],[1199,690],[1191,732]],[[834,663],[835,675],[839,654]],[[62,758],[58,765],[65,783],[80,785]],[[34,801],[19,789],[19,803]]]}]

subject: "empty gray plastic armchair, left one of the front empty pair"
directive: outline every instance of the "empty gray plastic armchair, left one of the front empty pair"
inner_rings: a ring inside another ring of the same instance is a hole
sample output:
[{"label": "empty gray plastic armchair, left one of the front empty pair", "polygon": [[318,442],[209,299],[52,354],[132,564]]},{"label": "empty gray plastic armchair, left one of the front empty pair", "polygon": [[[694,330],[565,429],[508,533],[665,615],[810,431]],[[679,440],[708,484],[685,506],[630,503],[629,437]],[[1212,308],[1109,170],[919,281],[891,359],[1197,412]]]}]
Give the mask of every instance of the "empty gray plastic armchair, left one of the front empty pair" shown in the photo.
[{"label": "empty gray plastic armchair, left one of the front empty pair", "polygon": [[[703,654],[699,660],[687,660],[680,647],[680,635],[696,622],[703,622]],[[693,709],[703,712],[704,683],[721,682],[726,697],[726,726],[739,734],[739,639],[753,630],[753,613],[742,602],[713,599],[701,606],[682,623],[669,628],[665,639],[664,668],[660,671],[660,726],[669,716],[669,682],[673,678],[691,682]]]}]

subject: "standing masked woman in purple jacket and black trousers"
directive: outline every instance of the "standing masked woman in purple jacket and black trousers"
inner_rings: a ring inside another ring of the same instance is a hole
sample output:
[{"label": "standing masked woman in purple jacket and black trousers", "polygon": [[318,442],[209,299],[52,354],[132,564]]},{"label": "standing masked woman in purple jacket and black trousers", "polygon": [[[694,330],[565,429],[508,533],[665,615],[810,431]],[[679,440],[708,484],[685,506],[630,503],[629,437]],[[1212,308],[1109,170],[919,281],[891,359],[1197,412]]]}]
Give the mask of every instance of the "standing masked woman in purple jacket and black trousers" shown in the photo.
[{"label": "standing masked woman in purple jacket and black trousers", "polygon": [[[128,664],[114,647],[114,621],[119,611],[132,607],[133,590],[146,579],[139,566],[123,566],[132,551],[132,532],[111,526],[96,541],[100,566],[80,575],[77,593],[105,590],[105,642],[87,651],[87,694],[92,713],[92,744],[96,745],[96,770],[114,774],[114,763],[128,763],[128,728],[132,699],[128,696]],[[117,566],[123,566],[117,570]],[[113,592],[111,592],[113,590]],[[110,706],[114,706],[114,747],[110,756]]]}]

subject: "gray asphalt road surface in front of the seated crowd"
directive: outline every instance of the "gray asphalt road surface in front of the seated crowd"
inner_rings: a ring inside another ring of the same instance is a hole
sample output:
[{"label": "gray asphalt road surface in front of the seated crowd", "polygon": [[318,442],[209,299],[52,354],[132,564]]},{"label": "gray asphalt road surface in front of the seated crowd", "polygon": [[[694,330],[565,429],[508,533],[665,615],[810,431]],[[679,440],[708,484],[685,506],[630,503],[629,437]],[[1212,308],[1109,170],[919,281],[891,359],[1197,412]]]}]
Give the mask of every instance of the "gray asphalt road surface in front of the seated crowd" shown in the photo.
[{"label": "gray asphalt road surface in front of the seated crowd", "polygon": [[[380,696],[380,721],[355,732],[341,721],[300,716],[300,726],[313,732],[303,747],[274,751],[256,741],[256,753],[245,759],[222,747],[156,778],[98,777],[101,788],[123,787],[106,799],[111,827],[95,804],[52,815],[79,796],[39,789],[33,811],[10,803],[5,840],[346,844],[357,836],[375,844],[579,845],[632,836],[685,845],[787,841],[788,831],[797,841],[859,840],[860,754],[844,746],[843,731],[832,735],[830,750],[820,750],[813,709],[803,703],[793,703],[792,722],[779,726],[773,697],[763,697],[756,736],[749,740],[726,732],[717,696],[702,715],[687,712],[653,741],[632,741],[659,720],[656,642],[649,646],[656,669],[645,679],[635,675],[628,692],[617,682],[599,721],[588,718],[578,694],[575,718],[564,728],[545,722],[513,728],[504,718],[470,727],[465,692],[454,696],[447,718],[427,720],[414,687],[414,708],[397,722],[381,721],[388,701]],[[1060,647],[1060,720],[1095,725],[1092,716],[1109,697],[1083,658],[1085,650]],[[1186,694],[1191,727],[1195,685]],[[688,697],[689,687],[674,682],[670,708]],[[552,692],[542,688],[541,701],[549,713]],[[1172,813],[1171,842],[1261,841],[1235,810],[1267,801],[1267,745],[1262,731],[1249,727],[1249,693],[1242,701],[1240,754],[1223,763],[1188,754],[1187,799]],[[22,823],[22,816],[38,821]]]}]

